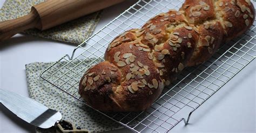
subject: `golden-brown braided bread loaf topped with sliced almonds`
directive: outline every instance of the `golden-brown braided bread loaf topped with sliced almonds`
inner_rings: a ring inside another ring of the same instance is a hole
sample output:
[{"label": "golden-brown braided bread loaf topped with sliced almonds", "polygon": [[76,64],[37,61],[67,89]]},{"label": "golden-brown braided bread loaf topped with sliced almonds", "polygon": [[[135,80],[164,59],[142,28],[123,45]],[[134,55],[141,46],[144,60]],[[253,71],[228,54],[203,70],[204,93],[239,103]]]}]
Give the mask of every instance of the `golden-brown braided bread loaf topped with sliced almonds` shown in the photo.
[{"label": "golden-brown braided bread loaf topped with sliced almonds", "polygon": [[254,21],[250,0],[186,0],[114,39],[105,60],[85,73],[79,94],[102,111],[137,112],[151,106],[185,67],[205,62]]}]

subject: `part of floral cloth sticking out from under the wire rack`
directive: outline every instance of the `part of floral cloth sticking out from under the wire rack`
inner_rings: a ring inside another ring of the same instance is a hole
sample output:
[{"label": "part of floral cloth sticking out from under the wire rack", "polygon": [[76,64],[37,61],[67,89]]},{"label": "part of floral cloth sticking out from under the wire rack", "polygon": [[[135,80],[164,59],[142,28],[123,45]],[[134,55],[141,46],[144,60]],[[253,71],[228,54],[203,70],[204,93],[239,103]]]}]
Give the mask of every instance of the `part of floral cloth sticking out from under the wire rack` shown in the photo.
[{"label": "part of floral cloth sticking out from under the wire rack", "polygon": [[[109,131],[122,128],[122,125],[110,120],[106,116],[87,107],[83,102],[72,98],[59,88],[41,78],[40,73],[52,63],[31,63],[26,64],[26,79],[30,98],[41,102],[45,106],[58,110],[63,120],[70,121],[76,127],[81,127],[93,132]],[[38,132],[51,132],[55,129],[39,129]]]}]

